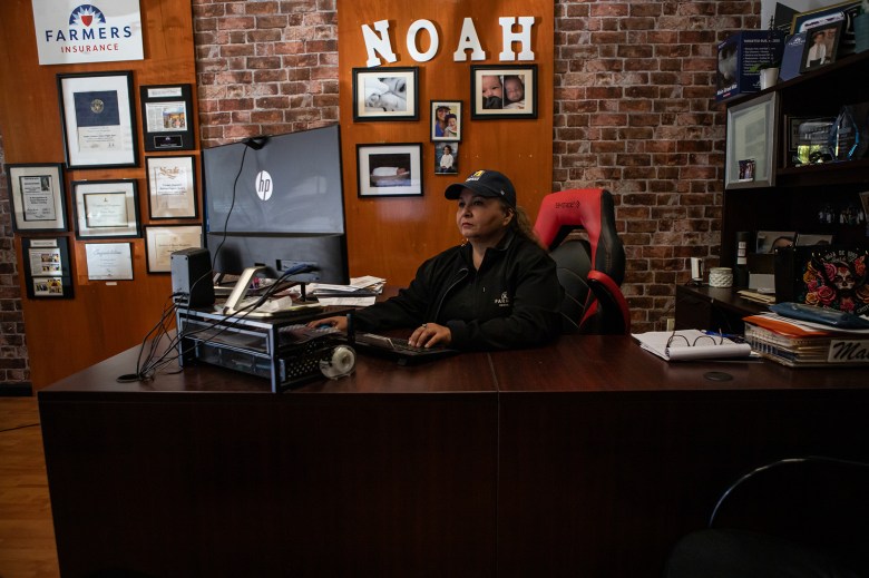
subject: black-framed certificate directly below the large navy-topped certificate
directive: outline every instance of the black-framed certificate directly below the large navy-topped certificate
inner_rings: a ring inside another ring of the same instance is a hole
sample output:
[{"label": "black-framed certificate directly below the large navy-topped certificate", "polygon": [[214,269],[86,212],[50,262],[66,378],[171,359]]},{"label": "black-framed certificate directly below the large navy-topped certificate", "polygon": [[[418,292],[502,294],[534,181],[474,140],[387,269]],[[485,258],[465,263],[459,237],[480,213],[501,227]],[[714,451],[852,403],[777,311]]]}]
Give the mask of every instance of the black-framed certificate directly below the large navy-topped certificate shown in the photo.
[{"label": "black-framed certificate directly below the large navy-topped certificate", "polygon": [[77,238],[140,237],[135,180],[74,180]]}]

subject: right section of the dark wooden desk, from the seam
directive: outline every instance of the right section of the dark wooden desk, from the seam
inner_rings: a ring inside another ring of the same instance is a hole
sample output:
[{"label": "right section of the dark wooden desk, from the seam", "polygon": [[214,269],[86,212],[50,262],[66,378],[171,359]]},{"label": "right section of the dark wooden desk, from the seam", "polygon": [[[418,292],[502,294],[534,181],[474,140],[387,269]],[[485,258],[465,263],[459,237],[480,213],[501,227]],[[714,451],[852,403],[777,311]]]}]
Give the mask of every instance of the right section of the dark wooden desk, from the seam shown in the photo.
[{"label": "right section of the dark wooden desk, from the seam", "polygon": [[491,360],[499,576],[660,577],[741,474],[784,457],[869,458],[865,370],[666,363],[616,336]]}]

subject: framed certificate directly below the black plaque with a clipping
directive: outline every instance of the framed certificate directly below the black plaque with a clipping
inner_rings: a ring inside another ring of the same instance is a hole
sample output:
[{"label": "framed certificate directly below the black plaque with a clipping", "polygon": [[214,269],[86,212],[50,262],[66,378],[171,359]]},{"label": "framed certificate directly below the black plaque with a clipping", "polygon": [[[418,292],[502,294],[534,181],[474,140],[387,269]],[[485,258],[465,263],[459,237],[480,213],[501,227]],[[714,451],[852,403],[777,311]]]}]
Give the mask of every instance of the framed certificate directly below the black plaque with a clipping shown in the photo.
[{"label": "framed certificate directly below the black plaque with a clipping", "polygon": [[150,218],[195,218],[198,212],[193,157],[148,157],[145,165]]}]

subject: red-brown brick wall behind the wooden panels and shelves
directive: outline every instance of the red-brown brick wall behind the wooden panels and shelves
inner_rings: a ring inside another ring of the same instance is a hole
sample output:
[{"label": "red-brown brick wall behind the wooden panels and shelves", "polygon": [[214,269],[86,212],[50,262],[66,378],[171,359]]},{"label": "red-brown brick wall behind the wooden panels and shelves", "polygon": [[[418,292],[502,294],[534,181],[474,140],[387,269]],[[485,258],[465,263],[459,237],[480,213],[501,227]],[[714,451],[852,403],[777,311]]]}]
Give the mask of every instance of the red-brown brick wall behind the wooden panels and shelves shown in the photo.
[{"label": "red-brown brick wall behind the wooden panels and shelves", "polygon": [[[335,10],[335,0],[193,0],[204,147],[338,120]],[[748,0],[556,0],[553,189],[615,194],[637,331],[660,329],[689,257],[715,264],[724,118],[713,98],[714,47],[730,31],[758,28],[759,11]],[[13,366],[0,376],[26,380],[1,198],[0,354]]]}]

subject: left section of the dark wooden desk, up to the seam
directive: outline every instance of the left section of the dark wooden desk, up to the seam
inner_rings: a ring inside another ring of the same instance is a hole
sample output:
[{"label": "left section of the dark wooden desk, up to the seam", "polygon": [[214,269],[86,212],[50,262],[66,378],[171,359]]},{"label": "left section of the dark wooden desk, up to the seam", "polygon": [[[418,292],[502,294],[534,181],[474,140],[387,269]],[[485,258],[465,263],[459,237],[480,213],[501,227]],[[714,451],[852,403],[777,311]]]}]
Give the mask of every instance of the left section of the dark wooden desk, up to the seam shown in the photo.
[{"label": "left section of the dark wooden desk, up to the seam", "polygon": [[[497,396],[485,354],[283,394],[217,368],[40,392],[65,576],[492,576]],[[101,365],[101,366],[100,366]]]}]

